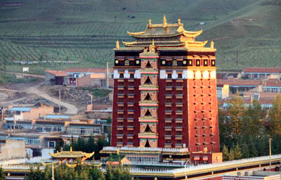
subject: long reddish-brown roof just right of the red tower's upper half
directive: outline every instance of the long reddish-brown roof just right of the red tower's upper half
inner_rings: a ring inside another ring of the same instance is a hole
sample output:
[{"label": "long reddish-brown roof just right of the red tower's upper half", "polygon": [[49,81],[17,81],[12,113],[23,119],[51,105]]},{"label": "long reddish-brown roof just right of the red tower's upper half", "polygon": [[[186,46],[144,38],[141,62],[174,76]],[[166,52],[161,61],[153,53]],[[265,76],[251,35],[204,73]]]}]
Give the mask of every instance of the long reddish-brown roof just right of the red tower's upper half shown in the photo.
[{"label": "long reddish-brown roof just right of the red tower's upper half", "polygon": [[251,79],[217,79],[216,84],[221,86],[228,84],[230,86],[259,86],[262,84],[262,80],[251,80]]}]

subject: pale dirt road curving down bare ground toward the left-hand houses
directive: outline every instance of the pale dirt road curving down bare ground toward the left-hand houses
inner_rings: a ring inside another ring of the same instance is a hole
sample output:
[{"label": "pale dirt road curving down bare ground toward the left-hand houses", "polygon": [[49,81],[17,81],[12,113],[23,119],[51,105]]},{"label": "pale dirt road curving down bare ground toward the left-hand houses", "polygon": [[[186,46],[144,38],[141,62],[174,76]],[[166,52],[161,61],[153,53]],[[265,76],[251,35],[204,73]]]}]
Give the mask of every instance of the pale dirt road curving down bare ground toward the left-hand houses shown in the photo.
[{"label": "pale dirt road curving down bare ground toward the left-hand houses", "polygon": [[[42,98],[46,98],[46,100],[51,101],[55,104],[60,104],[61,106],[65,107],[67,110],[66,112],[64,112],[64,114],[68,114],[68,115],[76,115],[78,113],[78,109],[76,108],[75,105],[72,105],[70,103],[65,103],[63,101],[58,101],[57,98],[53,98],[51,96],[49,96],[46,91],[43,91],[42,89],[39,89],[41,84],[39,83],[36,86],[31,86],[29,87],[27,90],[15,90],[15,89],[5,89],[5,88],[0,88],[0,91],[15,91],[15,92],[25,92],[28,94],[35,94],[37,96],[40,96]],[[5,102],[4,102],[5,103]]]}]

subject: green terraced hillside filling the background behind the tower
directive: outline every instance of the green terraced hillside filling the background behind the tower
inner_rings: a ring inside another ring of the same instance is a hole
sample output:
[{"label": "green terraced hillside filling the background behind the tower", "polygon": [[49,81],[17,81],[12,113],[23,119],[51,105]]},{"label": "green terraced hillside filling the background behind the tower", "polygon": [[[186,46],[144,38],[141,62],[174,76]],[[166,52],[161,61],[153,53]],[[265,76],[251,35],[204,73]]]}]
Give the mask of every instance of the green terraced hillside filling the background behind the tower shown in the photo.
[{"label": "green terraced hillside filling the background behind the tower", "polygon": [[220,69],[281,65],[280,0],[0,0],[0,58],[16,71],[14,60],[80,61],[25,65],[36,73],[103,66],[117,39],[130,40],[126,31],[143,30],[149,18],[162,23],[164,14],[214,40]]}]

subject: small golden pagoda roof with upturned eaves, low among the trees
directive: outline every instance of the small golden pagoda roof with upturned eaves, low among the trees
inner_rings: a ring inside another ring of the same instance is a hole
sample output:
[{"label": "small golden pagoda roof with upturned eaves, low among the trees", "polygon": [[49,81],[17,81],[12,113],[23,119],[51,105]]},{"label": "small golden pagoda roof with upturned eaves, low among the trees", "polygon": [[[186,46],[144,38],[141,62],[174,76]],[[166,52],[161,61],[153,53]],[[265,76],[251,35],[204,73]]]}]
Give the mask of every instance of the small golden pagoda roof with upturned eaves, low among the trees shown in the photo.
[{"label": "small golden pagoda roof with upturned eaves, low among the trees", "polygon": [[51,157],[53,158],[91,158],[95,152],[93,153],[84,153],[82,151],[72,151],[72,147],[70,151],[64,151],[58,153],[50,153]]}]

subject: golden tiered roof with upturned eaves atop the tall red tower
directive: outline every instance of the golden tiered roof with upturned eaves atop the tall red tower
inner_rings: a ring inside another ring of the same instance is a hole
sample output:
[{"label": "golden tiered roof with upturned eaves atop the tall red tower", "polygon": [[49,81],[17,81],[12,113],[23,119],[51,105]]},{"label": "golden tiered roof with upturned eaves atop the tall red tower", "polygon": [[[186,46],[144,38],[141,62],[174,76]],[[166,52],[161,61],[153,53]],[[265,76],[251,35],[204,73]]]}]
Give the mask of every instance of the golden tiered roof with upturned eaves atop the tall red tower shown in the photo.
[{"label": "golden tiered roof with upturned eaves atop the tall red tower", "polygon": [[[208,41],[195,41],[195,37],[199,36],[202,30],[197,32],[186,31],[183,28],[181,19],[178,23],[170,24],[166,22],[164,15],[162,24],[152,24],[148,20],[146,29],[142,32],[127,32],[136,41],[122,41],[126,47],[148,47],[154,43],[156,47],[169,47],[169,48],[205,48],[204,46]],[[117,47],[118,49],[119,47]],[[211,49],[214,49],[214,43],[211,43]]]}]

